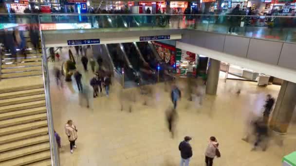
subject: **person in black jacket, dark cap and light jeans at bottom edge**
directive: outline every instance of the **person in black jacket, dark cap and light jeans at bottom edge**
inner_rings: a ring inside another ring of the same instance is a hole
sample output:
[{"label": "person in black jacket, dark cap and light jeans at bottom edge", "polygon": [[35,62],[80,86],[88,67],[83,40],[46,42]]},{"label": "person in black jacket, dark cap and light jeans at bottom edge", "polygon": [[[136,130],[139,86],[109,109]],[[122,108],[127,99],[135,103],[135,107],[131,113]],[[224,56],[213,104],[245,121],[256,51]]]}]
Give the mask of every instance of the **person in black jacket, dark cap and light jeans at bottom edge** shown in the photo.
[{"label": "person in black jacket, dark cap and light jeans at bottom edge", "polygon": [[179,144],[179,150],[181,152],[180,166],[189,166],[190,157],[192,157],[192,148],[189,144],[190,140],[190,136],[185,136],[184,141]]}]

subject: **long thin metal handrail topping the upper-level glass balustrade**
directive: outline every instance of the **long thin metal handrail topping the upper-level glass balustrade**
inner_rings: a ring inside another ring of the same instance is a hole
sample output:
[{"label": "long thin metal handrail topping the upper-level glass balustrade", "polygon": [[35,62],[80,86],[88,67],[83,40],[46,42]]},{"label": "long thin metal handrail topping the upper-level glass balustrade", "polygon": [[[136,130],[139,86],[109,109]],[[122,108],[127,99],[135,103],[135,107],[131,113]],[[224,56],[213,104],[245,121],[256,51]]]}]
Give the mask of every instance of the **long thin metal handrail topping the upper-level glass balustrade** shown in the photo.
[{"label": "long thin metal handrail topping the upper-level glass balustrade", "polygon": [[51,13],[51,14],[19,14],[19,13],[0,13],[0,15],[35,15],[35,16],[233,16],[233,17],[286,17],[293,18],[296,16],[246,16],[246,15],[209,15],[209,14],[70,14],[70,13]]}]

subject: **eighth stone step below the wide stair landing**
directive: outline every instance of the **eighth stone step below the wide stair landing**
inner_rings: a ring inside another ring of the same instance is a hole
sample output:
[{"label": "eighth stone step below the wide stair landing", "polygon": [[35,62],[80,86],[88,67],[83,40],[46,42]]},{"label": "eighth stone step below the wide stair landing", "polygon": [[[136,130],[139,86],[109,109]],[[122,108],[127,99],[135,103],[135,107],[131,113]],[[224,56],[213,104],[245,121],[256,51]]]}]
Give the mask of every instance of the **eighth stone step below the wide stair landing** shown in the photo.
[{"label": "eighth stone step below the wide stair landing", "polygon": [[19,141],[13,141],[6,144],[2,144],[0,146],[0,153],[4,151],[36,145],[36,144],[40,144],[48,141],[49,141],[49,137],[47,133],[44,133],[43,135],[38,135],[36,137],[30,137],[27,139],[21,139]]}]

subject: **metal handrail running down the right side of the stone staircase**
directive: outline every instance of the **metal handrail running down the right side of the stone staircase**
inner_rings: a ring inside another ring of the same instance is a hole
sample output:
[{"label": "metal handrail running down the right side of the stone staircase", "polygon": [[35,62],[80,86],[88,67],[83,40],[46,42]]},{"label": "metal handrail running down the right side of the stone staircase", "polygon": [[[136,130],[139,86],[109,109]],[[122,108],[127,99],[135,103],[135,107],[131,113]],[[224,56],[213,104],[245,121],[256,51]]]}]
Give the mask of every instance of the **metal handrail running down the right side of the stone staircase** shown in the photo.
[{"label": "metal handrail running down the right side of the stone staircase", "polygon": [[[38,21],[40,23],[40,17],[38,17]],[[48,65],[47,65],[47,55],[46,55],[46,48],[45,48],[43,33],[41,28],[39,28],[39,33],[40,33],[41,47],[42,47],[41,62],[42,62],[42,74],[43,74],[43,85],[44,85],[44,94],[45,94],[45,103],[46,103],[51,162],[52,162],[52,166],[60,166],[59,151],[58,151],[56,137],[55,137],[53,112],[52,112],[51,100],[50,100],[50,81],[49,81],[49,71],[48,71]]]}]

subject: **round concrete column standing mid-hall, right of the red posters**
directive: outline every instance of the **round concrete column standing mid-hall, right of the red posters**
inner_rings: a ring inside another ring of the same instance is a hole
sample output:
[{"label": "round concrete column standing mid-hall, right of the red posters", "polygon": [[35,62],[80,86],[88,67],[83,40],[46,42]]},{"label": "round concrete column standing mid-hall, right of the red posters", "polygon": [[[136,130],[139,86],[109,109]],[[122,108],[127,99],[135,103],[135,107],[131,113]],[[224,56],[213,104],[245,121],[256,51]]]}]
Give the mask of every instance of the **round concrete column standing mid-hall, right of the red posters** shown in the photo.
[{"label": "round concrete column standing mid-hall, right of the red posters", "polygon": [[206,86],[205,93],[209,95],[216,95],[219,81],[220,61],[210,59],[209,67],[206,72]]}]

